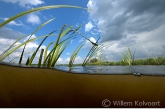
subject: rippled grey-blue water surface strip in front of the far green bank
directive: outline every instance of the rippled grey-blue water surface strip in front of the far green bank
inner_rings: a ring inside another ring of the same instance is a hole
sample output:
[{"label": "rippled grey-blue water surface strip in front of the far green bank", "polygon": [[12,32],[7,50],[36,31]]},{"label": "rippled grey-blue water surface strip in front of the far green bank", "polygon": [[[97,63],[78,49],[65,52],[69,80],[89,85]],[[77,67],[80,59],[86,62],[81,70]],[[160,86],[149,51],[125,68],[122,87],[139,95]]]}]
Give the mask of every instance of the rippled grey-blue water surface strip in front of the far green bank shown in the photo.
[{"label": "rippled grey-blue water surface strip in front of the far green bank", "polygon": [[69,71],[72,73],[86,74],[134,74],[143,75],[165,75],[164,65],[142,65],[142,66],[56,66],[58,70]]}]

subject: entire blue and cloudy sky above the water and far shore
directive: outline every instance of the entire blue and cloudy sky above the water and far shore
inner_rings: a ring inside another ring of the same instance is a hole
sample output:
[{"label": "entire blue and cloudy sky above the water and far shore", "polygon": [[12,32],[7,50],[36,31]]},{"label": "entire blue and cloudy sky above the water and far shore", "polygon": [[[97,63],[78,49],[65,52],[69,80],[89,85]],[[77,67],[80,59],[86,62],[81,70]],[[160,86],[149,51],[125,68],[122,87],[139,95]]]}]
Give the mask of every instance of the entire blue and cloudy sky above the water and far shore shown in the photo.
[{"label": "entire blue and cloudy sky above the water and far shore", "polygon": [[[91,41],[95,42],[101,37],[100,44],[105,41],[113,43],[102,52],[104,61],[120,61],[121,52],[125,53],[127,47],[132,51],[136,50],[135,59],[165,57],[165,0],[0,0],[0,23],[20,12],[47,5],[75,5],[93,9],[95,12],[60,8],[25,15],[0,28],[0,54],[23,34],[28,37],[39,25],[55,18],[32,37],[49,34],[54,30],[57,30],[58,34],[64,24],[74,28],[82,25],[79,32]],[[41,48],[45,48],[54,40],[55,37],[48,38]],[[84,40],[81,36],[73,39],[58,63],[68,63],[73,51]],[[38,40],[27,45],[23,62],[31,56],[40,42],[41,40]],[[83,62],[91,46],[89,41],[85,42],[75,63]],[[22,48],[18,49],[4,61],[19,57],[21,51]],[[38,57],[39,53],[34,63],[38,61]],[[18,63],[18,58],[14,62]]]}]

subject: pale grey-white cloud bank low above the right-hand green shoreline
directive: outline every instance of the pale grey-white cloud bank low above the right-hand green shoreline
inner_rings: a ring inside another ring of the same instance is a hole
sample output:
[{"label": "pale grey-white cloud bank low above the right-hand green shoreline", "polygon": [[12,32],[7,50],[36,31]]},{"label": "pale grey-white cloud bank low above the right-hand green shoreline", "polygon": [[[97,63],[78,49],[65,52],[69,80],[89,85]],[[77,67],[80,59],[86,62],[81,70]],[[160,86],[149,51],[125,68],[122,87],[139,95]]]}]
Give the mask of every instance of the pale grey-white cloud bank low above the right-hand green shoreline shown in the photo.
[{"label": "pale grey-white cloud bank low above the right-hand green shoreline", "polygon": [[104,54],[104,60],[121,60],[121,53],[125,53],[127,47],[129,47],[132,52],[136,49],[135,59],[155,56],[165,57],[164,28],[165,25],[155,29],[154,31],[136,34],[136,37],[128,35],[121,41],[116,41],[114,45],[102,52]]}]

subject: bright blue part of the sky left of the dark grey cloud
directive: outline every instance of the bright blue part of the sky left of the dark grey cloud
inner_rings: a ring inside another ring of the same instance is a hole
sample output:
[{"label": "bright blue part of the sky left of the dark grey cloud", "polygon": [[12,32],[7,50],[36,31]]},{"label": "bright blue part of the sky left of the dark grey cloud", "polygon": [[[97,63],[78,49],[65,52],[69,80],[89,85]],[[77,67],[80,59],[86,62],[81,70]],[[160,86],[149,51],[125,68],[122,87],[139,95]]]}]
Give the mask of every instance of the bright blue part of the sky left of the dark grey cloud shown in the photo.
[{"label": "bright blue part of the sky left of the dark grey cloud", "polygon": [[[38,4],[33,5],[27,2],[15,2],[13,3],[12,0],[9,1],[0,1],[0,21],[3,22],[5,19],[16,15],[20,12],[26,11],[27,9],[39,7],[39,6],[46,6],[46,5],[75,5],[87,8],[88,0],[82,0],[82,1],[76,1],[76,0],[49,0],[49,1],[38,1]],[[26,4],[25,4],[26,3]],[[10,8],[6,8],[10,7]],[[14,23],[9,23],[5,28],[11,29],[12,31],[20,32],[21,34],[30,34],[34,31],[35,28],[37,28],[40,24],[44,23],[45,21],[55,18],[55,20],[42,29],[40,29],[36,34],[35,37],[42,36],[45,34],[48,34],[52,32],[53,30],[57,30],[57,33],[59,33],[61,27],[64,24],[68,24],[73,27],[77,27],[79,25],[82,25],[82,28],[80,29],[80,33],[90,38],[93,36],[86,27],[85,31],[85,25],[89,22],[88,21],[88,12],[87,10],[82,9],[75,9],[75,8],[60,8],[60,9],[50,9],[50,10],[43,10],[36,13],[32,13],[26,16],[23,16],[17,20],[14,21]],[[92,25],[92,24],[91,24]],[[88,27],[90,29],[90,27]],[[88,31],[88,32],[87,32]],[[11,36],[11,39],[17,39],[20,37],[18,36],[14,37]],[[95,36],[97,38],[97,36]],[[45,41],[44,45],[48,45],[52,40],[55,40],[56,38],[50,37],[48,40]],[[64,51],[64,53],[61,55],[61,59],[67,59],[71,56],[73,50],[76,49],[82,42],[83,37],[78,36],[76,39],[72,40],[72,43],[67,47],[67,49]],[[41,40],[38,40],[35,44],[39,44]],[[30,46],[30,45],[29,45]],[[37,46],[37,45],[36,45]],[[35,49],[36,47],[32,48]],[[89,49],[84,47],[79,55],[81,55],[80,61],[82,62],[82,58],[84,58],[87,55],[87,51]],[[29,51],[29,50],[28,50]],[[84,52],[85,51],[85,52]],[[78,61],[78,60],[77,60]]]}]

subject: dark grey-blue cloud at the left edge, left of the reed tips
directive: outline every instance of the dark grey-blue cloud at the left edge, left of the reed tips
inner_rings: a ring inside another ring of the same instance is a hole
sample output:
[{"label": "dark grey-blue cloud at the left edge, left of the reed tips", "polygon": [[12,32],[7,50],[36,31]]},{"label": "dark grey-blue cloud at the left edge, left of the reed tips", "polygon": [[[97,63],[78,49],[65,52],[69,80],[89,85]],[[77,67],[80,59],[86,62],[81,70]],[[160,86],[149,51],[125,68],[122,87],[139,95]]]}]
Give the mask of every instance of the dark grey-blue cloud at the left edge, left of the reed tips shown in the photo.
[{"label": "dark grey-blue cloud at the left edge, left of the reed tips", "polygon": [[0,37],[6,39],[18,39],[23,33],[10,28],[0,28]]}]

